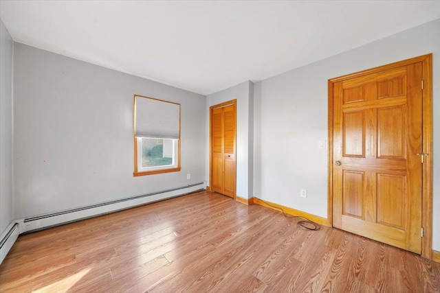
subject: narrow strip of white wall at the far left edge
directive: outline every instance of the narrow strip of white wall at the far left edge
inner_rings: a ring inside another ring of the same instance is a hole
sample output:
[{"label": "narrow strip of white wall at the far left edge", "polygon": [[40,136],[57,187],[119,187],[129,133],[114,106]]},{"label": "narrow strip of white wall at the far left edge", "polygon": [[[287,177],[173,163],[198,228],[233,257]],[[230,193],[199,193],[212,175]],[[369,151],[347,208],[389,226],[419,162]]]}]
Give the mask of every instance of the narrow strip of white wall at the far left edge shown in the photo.
[{"label": "narrow strip of white wall at the far left edge", "polygon": [[14,219],[12,199],[13,43],[0,19],[0,235]]}]

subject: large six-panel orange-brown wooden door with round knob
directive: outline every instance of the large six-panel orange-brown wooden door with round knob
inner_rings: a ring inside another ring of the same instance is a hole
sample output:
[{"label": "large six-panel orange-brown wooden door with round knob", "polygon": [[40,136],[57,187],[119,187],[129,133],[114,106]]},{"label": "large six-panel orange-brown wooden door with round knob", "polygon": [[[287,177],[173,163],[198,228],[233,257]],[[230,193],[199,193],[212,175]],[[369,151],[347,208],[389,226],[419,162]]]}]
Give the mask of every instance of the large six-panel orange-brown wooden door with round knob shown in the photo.
[{"label": "large six-panel orange-brown wooden door with round knob", "polygon": [[421,253],[422,62],[333,84],[333,226]]}]

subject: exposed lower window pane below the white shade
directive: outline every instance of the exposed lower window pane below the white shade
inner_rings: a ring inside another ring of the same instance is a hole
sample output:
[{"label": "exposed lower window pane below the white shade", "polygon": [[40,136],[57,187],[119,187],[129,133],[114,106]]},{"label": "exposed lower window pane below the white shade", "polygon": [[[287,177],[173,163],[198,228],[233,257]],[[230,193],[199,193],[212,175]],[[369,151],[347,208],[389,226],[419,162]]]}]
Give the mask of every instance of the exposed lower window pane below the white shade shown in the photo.
[{"label": "exposed lower window pane below the white shade", "polygon": [[142,168],[173,165],[173,141],[142,137]]}]

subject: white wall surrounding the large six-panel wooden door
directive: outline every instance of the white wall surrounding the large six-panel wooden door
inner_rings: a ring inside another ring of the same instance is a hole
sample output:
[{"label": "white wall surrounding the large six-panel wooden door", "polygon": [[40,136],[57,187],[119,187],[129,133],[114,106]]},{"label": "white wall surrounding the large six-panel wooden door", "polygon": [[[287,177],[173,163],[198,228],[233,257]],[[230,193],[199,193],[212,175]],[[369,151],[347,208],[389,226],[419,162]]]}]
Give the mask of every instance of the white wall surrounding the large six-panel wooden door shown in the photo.
[{"label": "white wall surrounding the large six-panel wooden door", "polygon": [[[325,44],[322,44],[325,45]],[[440,150],[440,20],[256,83],[254,195],[327,218],[327,80],[433,54],[434,152]],[[433,249],[440,250],[440,156],[434,154]],[[300,189],[308,190],[300,198]]]}]

